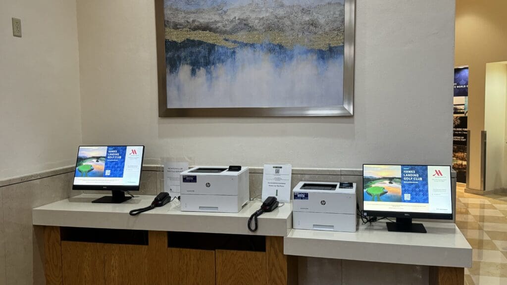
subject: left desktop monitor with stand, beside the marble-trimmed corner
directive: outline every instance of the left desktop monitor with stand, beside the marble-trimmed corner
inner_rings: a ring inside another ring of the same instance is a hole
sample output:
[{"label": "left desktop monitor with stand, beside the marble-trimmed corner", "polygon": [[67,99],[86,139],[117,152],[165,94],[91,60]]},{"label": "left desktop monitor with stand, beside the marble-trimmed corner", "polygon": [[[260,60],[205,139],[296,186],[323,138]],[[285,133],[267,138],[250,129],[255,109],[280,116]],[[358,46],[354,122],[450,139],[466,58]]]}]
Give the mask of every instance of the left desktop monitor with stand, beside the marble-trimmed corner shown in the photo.
[{"label": "left desktop monitor with stand, beside the marble-trimmed corner", "polygon": [[125,191],[138,191],[144,146],[81,146],[73,190],[112,191],[93,203],[122,203]]}]

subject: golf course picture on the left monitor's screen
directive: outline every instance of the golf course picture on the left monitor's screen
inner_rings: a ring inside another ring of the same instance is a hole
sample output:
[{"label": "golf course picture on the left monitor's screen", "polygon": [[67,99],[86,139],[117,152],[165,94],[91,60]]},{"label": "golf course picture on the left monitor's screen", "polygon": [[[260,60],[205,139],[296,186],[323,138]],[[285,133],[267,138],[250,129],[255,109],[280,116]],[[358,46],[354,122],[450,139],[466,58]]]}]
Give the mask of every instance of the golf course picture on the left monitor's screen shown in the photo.
[{"label": "golf course picture on the left monitor's screen", "polygon": [[80,147],[76,177],[102,177],[107,147]]}]

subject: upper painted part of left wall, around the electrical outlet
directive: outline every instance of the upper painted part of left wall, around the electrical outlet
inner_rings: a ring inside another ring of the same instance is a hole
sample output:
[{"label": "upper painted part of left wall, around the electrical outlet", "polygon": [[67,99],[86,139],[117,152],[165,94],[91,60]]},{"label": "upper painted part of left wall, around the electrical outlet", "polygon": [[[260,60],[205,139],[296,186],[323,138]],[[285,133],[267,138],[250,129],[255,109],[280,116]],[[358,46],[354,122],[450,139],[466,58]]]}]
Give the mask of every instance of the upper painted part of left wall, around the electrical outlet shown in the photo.
[{"label": "upper painted part of left wall, around the electrical outlet", "polygon": [[0,23],[0,180],[72,164],[81,142],[76,2],[2,0]]}]

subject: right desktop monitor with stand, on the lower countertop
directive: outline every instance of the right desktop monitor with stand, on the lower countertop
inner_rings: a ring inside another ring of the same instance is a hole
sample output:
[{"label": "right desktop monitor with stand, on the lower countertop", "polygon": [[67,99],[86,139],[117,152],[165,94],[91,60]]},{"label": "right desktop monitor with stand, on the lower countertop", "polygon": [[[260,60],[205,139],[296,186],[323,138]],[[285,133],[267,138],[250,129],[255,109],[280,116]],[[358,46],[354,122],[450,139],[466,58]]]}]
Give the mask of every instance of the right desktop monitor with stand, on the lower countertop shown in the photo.
[{"label": "right desktop monitor with stand, on the lower countertop", "polygon": [[365,216],[396,218],[389,231],[423,232],[413,218],[452,220],[451,167],[363,165]]}]

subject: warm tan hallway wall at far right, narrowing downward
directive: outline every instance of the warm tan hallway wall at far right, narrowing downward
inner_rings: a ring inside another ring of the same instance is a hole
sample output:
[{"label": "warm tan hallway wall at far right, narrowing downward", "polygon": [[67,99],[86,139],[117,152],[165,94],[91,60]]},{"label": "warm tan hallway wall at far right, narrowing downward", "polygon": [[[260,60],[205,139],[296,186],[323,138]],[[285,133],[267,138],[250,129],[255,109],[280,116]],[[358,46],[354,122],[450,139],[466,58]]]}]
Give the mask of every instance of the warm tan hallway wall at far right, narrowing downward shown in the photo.
[{"label": "warm tan hallway wall at far right, narrowing downward", "polygon": [[469,187],[480,189],[481,131],[484,130],[486,63],[507,60],[507,1],[456,1],[456,66],[469,66]]}]

